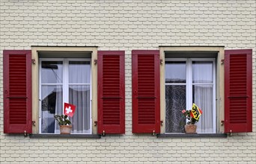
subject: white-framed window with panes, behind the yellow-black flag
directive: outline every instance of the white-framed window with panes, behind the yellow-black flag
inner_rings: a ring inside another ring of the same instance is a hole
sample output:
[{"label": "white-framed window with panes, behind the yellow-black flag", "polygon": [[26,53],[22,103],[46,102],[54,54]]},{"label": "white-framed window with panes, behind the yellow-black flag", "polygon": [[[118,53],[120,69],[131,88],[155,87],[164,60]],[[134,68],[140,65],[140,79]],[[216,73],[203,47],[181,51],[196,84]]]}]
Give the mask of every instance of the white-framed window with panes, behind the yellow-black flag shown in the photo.
[{"label": "white-framed window with panes, behind the yellow-black flag", "polygon": [[192,103],[203,110],[198,133],[216,133],[215,59],[165,59],[165,133],[184,133],[181,111]]}]

